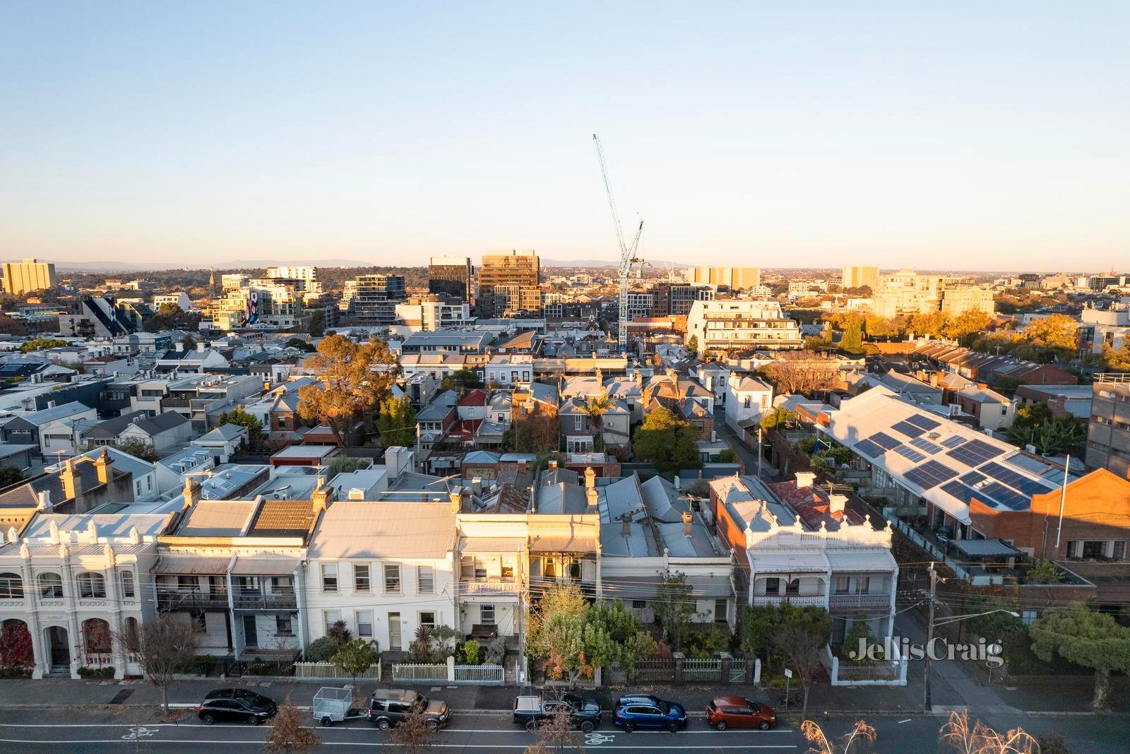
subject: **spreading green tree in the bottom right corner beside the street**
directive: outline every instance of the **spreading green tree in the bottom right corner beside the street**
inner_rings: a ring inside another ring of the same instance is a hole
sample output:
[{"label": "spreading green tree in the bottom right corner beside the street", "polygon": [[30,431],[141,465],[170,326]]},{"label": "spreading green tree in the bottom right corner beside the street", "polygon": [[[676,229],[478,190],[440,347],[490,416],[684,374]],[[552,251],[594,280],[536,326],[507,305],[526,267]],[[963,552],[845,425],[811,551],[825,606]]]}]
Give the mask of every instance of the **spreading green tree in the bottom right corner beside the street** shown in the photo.
[{"label": "spreading green tree in the bottom right corner beside the street", "polygon": [[1111,670],[1130,671],[1130,629],[1121,626],[1113,615],[1096,613],[1083,603],[1053,607],[1028,627],[1032,651],[1045,662],[1054,655],[1095,669],[1095,695],[1090,705],[1106,705]]}]

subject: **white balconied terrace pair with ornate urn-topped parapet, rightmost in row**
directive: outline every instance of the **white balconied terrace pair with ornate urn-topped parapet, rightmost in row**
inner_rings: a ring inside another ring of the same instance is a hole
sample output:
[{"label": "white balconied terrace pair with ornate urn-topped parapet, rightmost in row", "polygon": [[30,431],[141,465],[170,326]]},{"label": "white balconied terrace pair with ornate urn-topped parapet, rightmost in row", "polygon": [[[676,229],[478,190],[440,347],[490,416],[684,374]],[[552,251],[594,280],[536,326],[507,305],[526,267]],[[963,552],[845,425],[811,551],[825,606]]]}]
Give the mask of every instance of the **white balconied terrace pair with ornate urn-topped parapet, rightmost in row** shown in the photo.
[{"label": "white balconied terrace pair with ornate urn-topped parapet, rightmost in row", "polygon": [[890,554],[890,523],[876,529],[842,522],[806,529],[768,513],[767,527],[746,529],[749,560],[749,605],[816,606],[832,614],[832,643],[840,644],[859,614],[866,614],[871,634],[889,636],[895,624],[898,564]]}]

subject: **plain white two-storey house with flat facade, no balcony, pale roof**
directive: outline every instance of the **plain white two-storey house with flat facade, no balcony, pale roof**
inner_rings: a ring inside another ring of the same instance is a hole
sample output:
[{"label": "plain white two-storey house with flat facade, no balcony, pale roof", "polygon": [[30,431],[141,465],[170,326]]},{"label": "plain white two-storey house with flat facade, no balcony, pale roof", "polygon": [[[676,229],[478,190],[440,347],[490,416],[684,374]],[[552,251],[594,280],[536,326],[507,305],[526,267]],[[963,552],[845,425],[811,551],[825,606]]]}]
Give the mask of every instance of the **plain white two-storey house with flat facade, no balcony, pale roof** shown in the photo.
[{"label": "plain white two-storey house with flat facade, no balcony, pale roof", "polygon": [[310,640],[345,621],[400,651],[417,629],[455,626],[455,514],[446,501],[339,500],[314,531],[306,564]]}]

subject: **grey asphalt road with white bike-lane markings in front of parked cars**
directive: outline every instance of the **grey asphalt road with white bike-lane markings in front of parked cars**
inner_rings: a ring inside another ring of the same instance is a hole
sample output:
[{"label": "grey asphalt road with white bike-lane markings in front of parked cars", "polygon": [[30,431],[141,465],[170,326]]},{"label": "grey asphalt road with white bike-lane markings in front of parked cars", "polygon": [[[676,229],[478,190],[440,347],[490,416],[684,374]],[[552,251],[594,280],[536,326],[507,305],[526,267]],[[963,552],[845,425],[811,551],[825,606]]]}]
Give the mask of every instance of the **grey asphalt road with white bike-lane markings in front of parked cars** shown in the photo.
[{"label": "grey asphalt road with white bike-lane markings in front of parked cars", "polygon": [[[129,709],[115,711],[60,710],[8,710],[0,712],[0,751],[11,752],[201,752],[209,748],[219,752],[259,752],[262,749],[267,728],[245,725],[205,726],[195,717],[180,723],[151,723],[131,720]],[[149,714],[145,712],[145,714]],[[61,717],[58,722],[50,717]],[[828,718],[820,721],[829,736],[840,736],[851,727],[854,718]],[[938,728],[944,719],[939,717],[876,717],[869,720],[878,730],[878,739],[872,751],[881,754],[904,754],[915,752],[927,754],[938,751]],[[1060,733],[1064,735],[1072,751],[1088,754],[1106,752],[1124,754],[1125,721],[1120,718],[996,718],[986,720],[993,727],[1005,730],[1023,726],[1033,735]],[[355,721],[331,728],[316,728],[322,738],[321,752],[351,751],[357,747],[374,747],[380,751],[395,751],[389,743],[388,734],[377,731],[367,722]],[[464,714],[457,716],[454,725],[437,734],[436,752],[499,752],[521,754],[536,740],[512,725],[507,716]],[[694,718],[690,727],[677,734],[670,733],[621,733],[609,723],[585,737],[589,752],[612,751],[618,754],[653,754],[654,752],[696,752],[702,754],[733,754],[739,752],[797,752],[808,748],[800,733],[791,726],[782,726],[770,731],[709,729],[705,720]]]}]

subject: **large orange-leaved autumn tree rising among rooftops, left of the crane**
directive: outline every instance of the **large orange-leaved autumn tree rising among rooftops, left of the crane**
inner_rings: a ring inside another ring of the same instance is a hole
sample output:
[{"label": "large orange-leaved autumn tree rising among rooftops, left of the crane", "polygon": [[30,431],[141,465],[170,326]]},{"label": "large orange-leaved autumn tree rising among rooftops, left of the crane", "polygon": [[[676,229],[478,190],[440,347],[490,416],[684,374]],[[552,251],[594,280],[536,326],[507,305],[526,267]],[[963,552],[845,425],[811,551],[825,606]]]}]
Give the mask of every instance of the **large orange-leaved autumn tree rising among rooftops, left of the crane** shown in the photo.
[{"label": "large orange-leaved autumn tree rising among rooftops, left of the crane", "polygon": [[305,361],[321,384],[298,389],[298,414],[330,425],[346,444],[349,430],[384,399],[400,375],[400,365],[383,340],[355,344],[339,335],[322,338],[318,352]]}]

